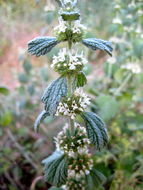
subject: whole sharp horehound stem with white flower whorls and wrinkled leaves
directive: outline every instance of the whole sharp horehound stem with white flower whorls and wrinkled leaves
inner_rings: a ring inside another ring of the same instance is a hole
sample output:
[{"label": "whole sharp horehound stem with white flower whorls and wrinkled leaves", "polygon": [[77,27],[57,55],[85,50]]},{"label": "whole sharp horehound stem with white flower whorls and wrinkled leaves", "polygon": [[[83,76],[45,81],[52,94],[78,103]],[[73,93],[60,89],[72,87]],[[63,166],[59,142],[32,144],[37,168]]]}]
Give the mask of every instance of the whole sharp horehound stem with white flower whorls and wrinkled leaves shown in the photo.
[{"label": "whole sharp horehound stem with white flower whorls and wrinkled leaves", "polygon": [[[28,52],[41,56],[50,52],[57,44],[67,42],[67,48],[53,56],[51,68],[60,77],[43,94],[42,102],[45,107],[36,119],[35,129],[48,116],[67,118],[63,130],[54,138],[56,151],[43,160],[45,180],[53,186],[53,190],[94,190],[100,187],[105,177],[94,168],[89,147],[94,145],[96,151],[101,150],[107,144],[108,136],[104,122],[95,113],[85,111],[90,98],[81,87],[87,82],[83,72],[87,60],[83,52],[77,52],[75,47],[77,43],[81,43],[109,55],[112,54],[112,47],[108,41],[84,39],[86,28],[80,23],[77,0],[61,0],[60,3],[62,8],[59,11],[59,25],[54,29],[56,37],[37,37],[28,43]],[[85,126],[78,123],[81,119]]]}]

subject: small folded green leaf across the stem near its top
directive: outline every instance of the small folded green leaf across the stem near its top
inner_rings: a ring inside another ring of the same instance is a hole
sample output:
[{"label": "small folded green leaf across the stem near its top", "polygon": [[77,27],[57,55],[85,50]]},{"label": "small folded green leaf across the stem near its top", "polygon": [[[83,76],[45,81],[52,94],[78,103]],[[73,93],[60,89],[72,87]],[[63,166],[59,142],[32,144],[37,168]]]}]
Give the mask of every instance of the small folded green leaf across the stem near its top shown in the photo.
[{"label": "small folded green leaf across the stem near its top", "polygon": [[73,20],[79,20],[80,14],[79,12],[62,12],[61,17],[65,21],[73,21]]}]

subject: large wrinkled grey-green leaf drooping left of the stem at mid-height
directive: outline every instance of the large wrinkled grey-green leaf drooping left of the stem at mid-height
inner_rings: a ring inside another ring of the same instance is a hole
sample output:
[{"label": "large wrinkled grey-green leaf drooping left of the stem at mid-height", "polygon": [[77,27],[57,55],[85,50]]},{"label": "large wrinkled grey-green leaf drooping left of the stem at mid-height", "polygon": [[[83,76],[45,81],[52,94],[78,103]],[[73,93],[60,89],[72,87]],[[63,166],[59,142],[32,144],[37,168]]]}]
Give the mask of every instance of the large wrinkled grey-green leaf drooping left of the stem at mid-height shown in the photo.
[{"label": "large wrinkled grey-green leaf drooping left of the stem at mid-height", "polygon": [[43,94],[42,102],[49,115],[54,115],[62,97],[67,95],[66,78],[60,77],[48,86]]}]

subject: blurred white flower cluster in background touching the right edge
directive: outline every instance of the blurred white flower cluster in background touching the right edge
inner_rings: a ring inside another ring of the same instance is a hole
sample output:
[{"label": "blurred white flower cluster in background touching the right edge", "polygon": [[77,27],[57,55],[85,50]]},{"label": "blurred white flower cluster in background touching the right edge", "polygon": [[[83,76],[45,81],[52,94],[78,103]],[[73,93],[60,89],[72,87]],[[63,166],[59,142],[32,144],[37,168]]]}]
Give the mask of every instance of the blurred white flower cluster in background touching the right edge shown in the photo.
[{"label": "blurred white flower cluster in background touching the right edge", "polygon": [[142,72],[140,65],[134,63],[128,63],[126,65],[122,65],[121,68],[130,70],[134,74],[139,74]]}]

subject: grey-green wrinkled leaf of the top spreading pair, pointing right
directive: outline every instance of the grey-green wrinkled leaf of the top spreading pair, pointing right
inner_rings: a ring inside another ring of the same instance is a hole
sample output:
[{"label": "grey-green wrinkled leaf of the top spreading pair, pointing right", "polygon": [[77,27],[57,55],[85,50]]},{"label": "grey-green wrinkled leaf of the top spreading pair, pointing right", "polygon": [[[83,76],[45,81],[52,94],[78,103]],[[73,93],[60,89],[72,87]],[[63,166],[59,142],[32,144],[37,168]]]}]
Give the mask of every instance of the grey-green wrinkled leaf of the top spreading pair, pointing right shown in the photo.
[{"label": "grey-green wrinkled leaf of the top spreading pair, pointing right", "polygon": [[88,48],[91,48],[92,50],[103,50],[106,51],[109,55],[112,56],[112,43],[101,40],[101,39],[96,39],[96,38],[87,38],[82,41],[82,43],[87,46]]}]

